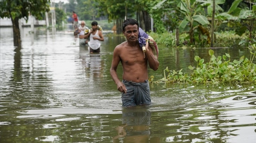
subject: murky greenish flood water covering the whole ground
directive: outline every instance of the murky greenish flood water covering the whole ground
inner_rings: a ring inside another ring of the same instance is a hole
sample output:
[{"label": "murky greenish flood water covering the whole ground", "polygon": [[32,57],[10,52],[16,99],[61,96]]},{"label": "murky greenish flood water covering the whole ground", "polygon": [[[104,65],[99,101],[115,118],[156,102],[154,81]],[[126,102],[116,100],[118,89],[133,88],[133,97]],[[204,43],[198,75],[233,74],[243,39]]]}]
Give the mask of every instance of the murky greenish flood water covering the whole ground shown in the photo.
[{"label": "murky greenish flood water covering the whole ground", "polygon": [[[12,28],[0,29],[1,143],[255,143],[256,85],[150,84],[152,105],[122,108],[109,74],[112,53],[124,36],[107,36],[100,54],[79,47],[70,29],[22,28],[22,48],[13,46]],[[164,69],[209,61],[208,48],[159,47]],[[246,48],[216,48],[231,61]],[[118,66],[122,77],[122,67]]]}]

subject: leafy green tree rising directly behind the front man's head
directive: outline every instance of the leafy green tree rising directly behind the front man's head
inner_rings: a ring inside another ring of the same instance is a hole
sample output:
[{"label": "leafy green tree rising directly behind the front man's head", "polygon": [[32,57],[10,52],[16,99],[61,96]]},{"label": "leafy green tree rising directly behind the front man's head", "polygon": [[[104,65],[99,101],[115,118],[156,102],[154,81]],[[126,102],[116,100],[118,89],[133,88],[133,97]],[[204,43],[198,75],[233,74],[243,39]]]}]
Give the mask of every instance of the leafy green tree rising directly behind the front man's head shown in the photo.
[{"label": "leafy green tree rising directly behind the front man's head", "polygon": [[109,22],[115,21],[118,34],[122,32],[122,22],[125,18],[135,18],[142,29],[149,31],[151,28],[150,9],[157,4],[157,1],[97,0],[97,9],[99,15],[108,16]]}]

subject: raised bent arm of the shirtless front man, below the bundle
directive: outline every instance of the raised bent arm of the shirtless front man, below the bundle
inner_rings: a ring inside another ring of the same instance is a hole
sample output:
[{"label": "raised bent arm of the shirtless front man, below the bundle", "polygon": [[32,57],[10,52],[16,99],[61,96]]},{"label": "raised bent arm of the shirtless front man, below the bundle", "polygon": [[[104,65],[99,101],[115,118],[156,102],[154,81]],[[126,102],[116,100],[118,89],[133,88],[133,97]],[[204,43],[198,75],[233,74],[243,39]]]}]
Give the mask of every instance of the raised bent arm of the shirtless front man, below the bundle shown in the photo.
[{"label": "raised bent arm of the shirtless front man, below the bundle", "polygon": [[149,48],[148,42],[146,42],[146,46],[145,47],[146,47],[145,55],[147,57],[148,64],[149,64],[150,68],[153,69],[153,70],[157,70],[158,67],[159,67],[159,61],[154,56],[153,50],[151,49],[151,47]]}]

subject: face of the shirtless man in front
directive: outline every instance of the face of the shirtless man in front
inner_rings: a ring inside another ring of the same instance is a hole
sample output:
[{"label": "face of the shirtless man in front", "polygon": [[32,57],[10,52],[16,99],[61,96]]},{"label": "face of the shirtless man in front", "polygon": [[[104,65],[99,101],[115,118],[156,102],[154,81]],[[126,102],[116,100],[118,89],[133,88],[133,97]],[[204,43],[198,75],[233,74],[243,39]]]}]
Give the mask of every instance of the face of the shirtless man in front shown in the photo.
[{"label": "face of the shirtless man in front", "polygon": [[124,36],[126,37],[127,41],[137,41],[139,37],[139,30],[138,26],[135,25],[128,25],[125,28],[125,31],[123,31]]}]

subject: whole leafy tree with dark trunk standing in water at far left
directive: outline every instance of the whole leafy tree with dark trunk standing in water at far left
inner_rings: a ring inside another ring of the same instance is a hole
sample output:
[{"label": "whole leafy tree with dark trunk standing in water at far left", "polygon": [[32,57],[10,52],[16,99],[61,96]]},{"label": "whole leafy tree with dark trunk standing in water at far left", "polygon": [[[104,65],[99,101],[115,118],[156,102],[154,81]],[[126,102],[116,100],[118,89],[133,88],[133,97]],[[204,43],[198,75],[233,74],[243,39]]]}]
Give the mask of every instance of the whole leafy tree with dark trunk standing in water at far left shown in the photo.
[{"label": "whole leafy tree with dark trunk standing in water at far left", "polygon": [[29,15],[41,20],[49,11],[50,0],[1,0],[0,17],[11,18],[14,46],[21,47],[19,19],[28,21]]}]

